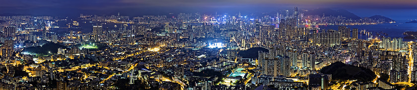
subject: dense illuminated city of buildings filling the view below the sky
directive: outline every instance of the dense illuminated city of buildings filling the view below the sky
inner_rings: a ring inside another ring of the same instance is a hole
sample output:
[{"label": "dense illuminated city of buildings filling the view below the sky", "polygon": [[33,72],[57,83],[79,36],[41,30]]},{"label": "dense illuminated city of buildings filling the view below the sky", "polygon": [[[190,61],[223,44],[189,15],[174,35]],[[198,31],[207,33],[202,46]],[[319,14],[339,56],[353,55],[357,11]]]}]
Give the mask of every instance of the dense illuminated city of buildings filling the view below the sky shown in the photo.
[{"label": "dense illuminated city of buildings filling the view below the sky", "polygon": [[[303,11],[295,7],[293,13],[283,10],[275,17],[241,13],[133,18],[119,13],[81,14],[74,19],[0,16],[4,21],[0,22],[0,89],[378,90],[414,86],[416,42],[373,36],[363,40],[359,37],[369,33],[347,26],[338,30],[302,27],[388,22],[304,16]],[[344,75],[352,78],[341,78]]]}]

